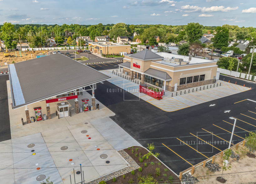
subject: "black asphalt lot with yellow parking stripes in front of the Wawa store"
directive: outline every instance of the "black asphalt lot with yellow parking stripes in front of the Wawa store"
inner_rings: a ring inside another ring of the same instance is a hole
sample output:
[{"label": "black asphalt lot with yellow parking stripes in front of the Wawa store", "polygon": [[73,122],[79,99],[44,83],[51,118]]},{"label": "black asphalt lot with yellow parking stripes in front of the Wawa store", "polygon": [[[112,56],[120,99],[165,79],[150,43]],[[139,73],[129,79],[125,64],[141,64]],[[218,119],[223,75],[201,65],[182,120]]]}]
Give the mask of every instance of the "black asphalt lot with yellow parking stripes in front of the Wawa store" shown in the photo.
[{"label": "black asphalt lot with yellow parking stripes in front of the Wawa store", "polygon": [[[245,84],[249,85],[246,81]],[[130,95],[131,101],[124,101],[124,91],[107,81],[97,85],[95,97],[115,113],[110,118],[141,145],[147,147],[153,142],[159,159],[178,174],[228,148],[233,128],[229,117],[238,119],[233,144],[243,141],[248,131],[256,130],[256,103],[245,100],[256,101],[254,86],[243,93],[175,112],[165,112],[144,100],[133,101],[135,96],[130,93],[125,95]],[[224,113],[226,110],[230,112]],[[205,143],[209,141],[210,144]]]}]

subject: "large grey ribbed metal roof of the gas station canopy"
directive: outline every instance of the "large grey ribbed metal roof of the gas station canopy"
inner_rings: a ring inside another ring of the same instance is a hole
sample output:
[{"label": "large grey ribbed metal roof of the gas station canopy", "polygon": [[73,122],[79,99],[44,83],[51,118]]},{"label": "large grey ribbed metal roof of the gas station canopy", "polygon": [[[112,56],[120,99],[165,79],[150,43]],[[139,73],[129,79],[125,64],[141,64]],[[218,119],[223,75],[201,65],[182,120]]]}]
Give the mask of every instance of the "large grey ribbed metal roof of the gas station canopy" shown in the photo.
[{"label": "large grey ribbed metal roof of the gas station canopy", "polygon": [[13,109],[110,79],[63,54],[9,64],[8,70]]}]

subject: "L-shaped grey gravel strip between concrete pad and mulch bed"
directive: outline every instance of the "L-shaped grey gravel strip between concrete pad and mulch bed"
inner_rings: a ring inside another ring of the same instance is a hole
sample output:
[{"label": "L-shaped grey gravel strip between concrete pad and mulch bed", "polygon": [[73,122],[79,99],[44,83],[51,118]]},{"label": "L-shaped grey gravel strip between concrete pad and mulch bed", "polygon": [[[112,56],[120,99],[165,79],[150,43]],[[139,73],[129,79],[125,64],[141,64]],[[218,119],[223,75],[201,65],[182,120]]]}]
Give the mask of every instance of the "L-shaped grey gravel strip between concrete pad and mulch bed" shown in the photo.
[{"label": "L-shaped grey gravel strip between concrete pad and mulch bed", "polygon": [[129,163],[128,167],[120,169],[119,171],[115,171],[109,175],[102,176],[96,180],[88,182],[88,184],[98,184],[100,181],[109,181],[112,180],[114,177],[118,177],[124,175],[132,170],[138,169],[140,166],[129,156],[124,150],[118,151],[118,153]]}]

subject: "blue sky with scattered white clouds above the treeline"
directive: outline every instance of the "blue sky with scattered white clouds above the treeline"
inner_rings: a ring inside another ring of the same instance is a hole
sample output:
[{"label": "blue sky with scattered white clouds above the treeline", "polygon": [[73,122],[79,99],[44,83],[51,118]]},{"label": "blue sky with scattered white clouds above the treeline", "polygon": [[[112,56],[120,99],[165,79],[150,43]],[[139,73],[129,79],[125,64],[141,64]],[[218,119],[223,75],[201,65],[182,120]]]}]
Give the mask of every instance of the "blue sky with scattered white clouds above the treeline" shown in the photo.
[{"label": "blue sky with scattered white clouds above the treeline", "polygon": [[255,0],[0,0],[0,24],[223,24],[256,27]]}]

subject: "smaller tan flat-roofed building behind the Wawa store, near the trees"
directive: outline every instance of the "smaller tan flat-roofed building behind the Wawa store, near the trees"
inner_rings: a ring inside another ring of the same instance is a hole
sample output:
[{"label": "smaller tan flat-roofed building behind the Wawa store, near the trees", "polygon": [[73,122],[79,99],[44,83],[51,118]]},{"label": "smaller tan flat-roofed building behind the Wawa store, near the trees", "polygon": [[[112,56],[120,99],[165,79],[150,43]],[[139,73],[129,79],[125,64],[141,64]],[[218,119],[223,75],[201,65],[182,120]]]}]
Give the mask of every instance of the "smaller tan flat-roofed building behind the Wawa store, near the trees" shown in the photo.
[{"label": "smaller tan flat-roofed building behind the Wawa store, near the trees", "polygon": [[123,45],[113,42],[90,42],[89,50],[96,54],[119,54],[120,52],[131,53],[131,45]]}]

